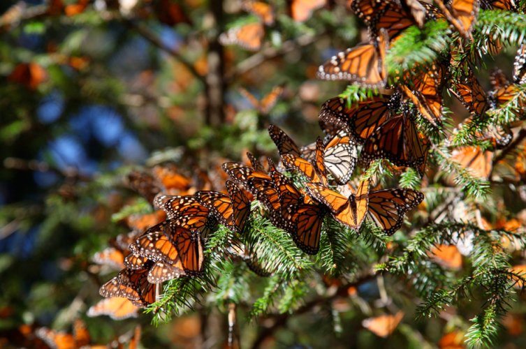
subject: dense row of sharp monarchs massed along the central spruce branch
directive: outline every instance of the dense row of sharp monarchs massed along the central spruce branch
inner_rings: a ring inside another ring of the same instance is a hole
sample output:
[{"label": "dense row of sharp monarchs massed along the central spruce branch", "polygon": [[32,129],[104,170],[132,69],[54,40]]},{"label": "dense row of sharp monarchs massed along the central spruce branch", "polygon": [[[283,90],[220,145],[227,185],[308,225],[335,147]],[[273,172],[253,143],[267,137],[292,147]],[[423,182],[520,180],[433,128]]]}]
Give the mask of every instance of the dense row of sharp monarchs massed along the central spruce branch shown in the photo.
[{"label": "dense row of sharp monarchs massed along the central spruce branch", "polygon": [[[131,182],[153,205],[166,214],[166,220],[138,235],[127,236],[131,243],[124,256],[122,269],[100,290],[103,297],[134,306],[152,304],[163,281],[181,276],[198,276],[205,267],[205,242],[218,224],[242,235],[249,223],[251,201],[256,199],[268,211],[270,222],[291,235],[305,253],[319,251],[323,219],[331,214],[337,221],[358,230],[370,214],[386,234],[398,230],[404,214],[423,200],[423,195],[411,189],[370,190],[370,180],[363,179],[353,191],[349,182],[358,161],[356,141],[342,128],[334,136],[319,138],[314,144],[299,148],[277,126],[270,126],[270,136],[277,144],[282,164],[307,177],[305,188],[277,169],[270,158],[263,165],[247,154],[250,164],[227,162],[222,168],[231,179],[226,180],[224,192],[199,190],[191,195],[168,195],[152,190],[152,183],[133,173]],[[159,171],[158,171],[159,172]],[[339,190],[329,187],[335,181]],[[166,179],[165,179],[166,182]],[[152,214],[153,223],[162,214]],[[133,220],[131,220],[133,221]],[[98,255],[102,260],[104,255]],[[249,264],[250,258],[244,258]],[[251,264],[254,266],[254,262]],[[249,264],[249,267],[251,266]],[[252,269],[252,268],[251,268]]]}]

